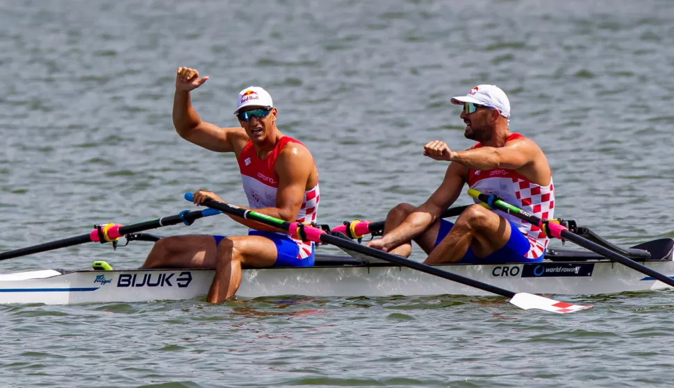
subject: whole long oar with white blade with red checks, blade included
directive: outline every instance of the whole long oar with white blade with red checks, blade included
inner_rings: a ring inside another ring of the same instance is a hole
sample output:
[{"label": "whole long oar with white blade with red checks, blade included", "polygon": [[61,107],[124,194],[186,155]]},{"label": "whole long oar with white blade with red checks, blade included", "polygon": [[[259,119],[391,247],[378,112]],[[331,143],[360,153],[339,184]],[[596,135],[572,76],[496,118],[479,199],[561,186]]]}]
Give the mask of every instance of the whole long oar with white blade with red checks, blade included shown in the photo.
[{"label": "whole long oar with white blade with red checks, blade included", "polygon": [[[187,199],[188,201],[193,201],[194,200],[193,194],[186,193],[185,199]],[[244,219],[252,219],[253,221],[258,221],[264,223],[265,225],[285,230],[286,233],[288,233],[288,235],[295,237],[297,239],[317,243],[322,242],[325,244],[332,244],[340,248],[345,248],[350,251],[363,253],[364,255],[369,255],[374,258],[385,260],[387,262],[392,262],[393,264],[397,264],[400,267],[416,269],[417,271],[429,273],[430,275],[439,276],[447,280],[459,282],[463,285],[468,285],[470,287],[482,289],[483,291],[491,292],[492,294],[505,296],[506,298],[510,298],[510,303],[520,308],[523,308],[524,310],[535,308],[550,312],[567,313],[591,307],[554,301],[549,298],[544,298],[543,296],[527,294],[526,292],[515,293],[507,289],[502,289],[500,287],[495,287],[493,285],[488,285],[486,283],[479,282],[478,280],[473,280],[461,275],[457,275],[456,273],[443,271],[442,269],[431,267],[429,265],[422,264],[420,262],[415,262],[413,260],[408,260],[397,255],[391,255],[391,253],[379,251],[375,248],[370,248],[369,246],[363,246],[356,242],[352,242],[349,239],[338,237],[338,235],[326,233],[325,230],[315,228],[308,224],[283,221],[282,219],[270,217],[266,214],[257,213],[252,210],[239,208],[238,206],[230,205],[229,203],[213,201],[212,199],[206,199],[205,201],[202,201],[202,204],[208,206],[208,208],[220,210],[223,213],[232,214],[234,216],[241,217]]]}]

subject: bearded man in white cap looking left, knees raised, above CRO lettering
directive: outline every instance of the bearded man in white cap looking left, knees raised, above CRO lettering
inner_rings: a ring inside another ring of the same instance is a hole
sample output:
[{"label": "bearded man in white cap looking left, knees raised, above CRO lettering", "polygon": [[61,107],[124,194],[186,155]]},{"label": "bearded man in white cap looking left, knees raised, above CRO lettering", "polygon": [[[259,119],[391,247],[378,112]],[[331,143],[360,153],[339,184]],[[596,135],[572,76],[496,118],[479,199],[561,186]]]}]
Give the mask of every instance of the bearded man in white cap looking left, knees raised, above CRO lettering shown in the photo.
[{"label": "bearded man in white cap looking left, knees raised, above CRO lettering", "polygon": [[477,85],[451,102],[463,106],[463,135],[477,144],[465,151],[452,151],[440,140],[426,144],[424,155],[450,162],[443,182],[422,205],[400,203],[391,209],[384,236],[368,245],[407,257],[413,240],[428,253],[426,264],[542,261],[548,237],[509,214],[476,204],[456,223],[439,218],[464,184],[496,194],[541,219],[552,219],[554,211],[548,159],[532,140],[510,131],[505,92],[495,85]]}]

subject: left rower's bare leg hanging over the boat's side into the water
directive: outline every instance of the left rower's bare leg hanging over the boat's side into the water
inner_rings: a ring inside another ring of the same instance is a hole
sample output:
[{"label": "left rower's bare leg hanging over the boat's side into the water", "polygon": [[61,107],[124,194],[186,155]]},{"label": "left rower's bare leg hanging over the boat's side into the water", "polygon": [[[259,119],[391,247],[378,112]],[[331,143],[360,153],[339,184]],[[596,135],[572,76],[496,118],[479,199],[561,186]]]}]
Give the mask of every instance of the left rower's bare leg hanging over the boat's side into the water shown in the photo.
[{"label": "left rower's bare leg hanging over the boat's side into the water", "polygon": [[241,265],[272,267],[277,258],[276,245],[261,236],[227,237],[217,245],[215,277],[208,291],[209,303],[232,298],[241,284]]}]

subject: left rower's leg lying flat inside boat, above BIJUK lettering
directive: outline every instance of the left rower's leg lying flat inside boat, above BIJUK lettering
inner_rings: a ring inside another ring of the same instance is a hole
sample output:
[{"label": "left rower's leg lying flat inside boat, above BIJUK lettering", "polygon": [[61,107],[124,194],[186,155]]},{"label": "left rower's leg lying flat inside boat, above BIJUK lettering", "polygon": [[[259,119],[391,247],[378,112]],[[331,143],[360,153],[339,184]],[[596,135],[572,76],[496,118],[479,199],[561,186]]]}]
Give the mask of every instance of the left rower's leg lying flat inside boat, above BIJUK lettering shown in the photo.
[{"label": "left rower's leg lying flat inside boat, above BIJUK lettering", "polygon": [[209,235],[184,235],[160,239],[141,268],[213,268],[215,239]]}]

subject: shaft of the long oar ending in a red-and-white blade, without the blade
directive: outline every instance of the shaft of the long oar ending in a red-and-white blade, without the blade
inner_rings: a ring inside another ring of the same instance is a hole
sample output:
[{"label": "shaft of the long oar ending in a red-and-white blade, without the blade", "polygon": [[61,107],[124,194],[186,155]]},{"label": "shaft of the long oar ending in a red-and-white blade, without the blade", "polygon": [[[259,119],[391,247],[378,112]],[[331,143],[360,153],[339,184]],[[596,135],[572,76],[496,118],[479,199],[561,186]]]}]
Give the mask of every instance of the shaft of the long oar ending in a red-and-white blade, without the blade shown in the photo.
[{"label": "shaft of the long oar ending in a red-and-white blade, without the blade", "polygon": [[[192,193],[185,194],[185,198],[188,201],[191,201]],[[293,228],[297,228],[297,223],[290,223],[287,221],[283,221],[281,219],[269,217],[268,215],[265,214],[254,212],[252,210],[239,208],[238,206],[230,205],[229,203],[213,201],[212,199],[206,199],[205,201],[202,202],[202,204],[208,206],[209,208],[220,210],[224,213],[232,214],[238,217],[242,217],[244,219],[252,219],[254,221],[264,223],[265,225],[268,226],[273,226],[281,230],[286,230],[288,234],[297,237],[296,231],[293,230]],[[409,267],[411,269],[416,269],[417,271],[429,273],[430,275],[439,276],[447,280],[453,280],[454,282],[459,282],[463,285],[468,285],[470,287],[482,289],[483,291],[505,296],[507,298],[512,298],[513,296],[516,295],[516,293],[511,292],[507,289],[502,289],[500,287],[488,285],[486,283],[479,282],[477,280],[457,275],[456,273],[443,271],[442,269],[431,267],[427,264],[415,262],[413,260],[408,260],[406,258],[402,258],[397,255],[391,255],[391,253],[379,251],[375,248],[370,248],[369,246],[363,246],[361,244],[352,242],[347,239],[343,239],[334,235],[329,235],[328,233],[325,233],[324,230],[321,230],[319,228],[313,228],[313,226],[304,226],[304,232],[306,233],[306,236],[309,237],[309,239],[313,242],[324,242],[326,244],[339,246],[341,248],[363,253],[365,255],[370,255],[372,257],[385,260],[387,262],[392,262],[393,264],[398,264],[402,267]]]}]

